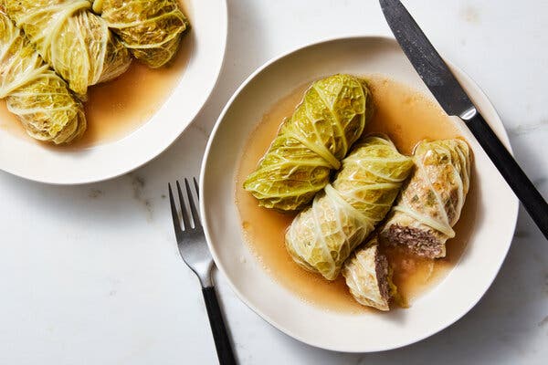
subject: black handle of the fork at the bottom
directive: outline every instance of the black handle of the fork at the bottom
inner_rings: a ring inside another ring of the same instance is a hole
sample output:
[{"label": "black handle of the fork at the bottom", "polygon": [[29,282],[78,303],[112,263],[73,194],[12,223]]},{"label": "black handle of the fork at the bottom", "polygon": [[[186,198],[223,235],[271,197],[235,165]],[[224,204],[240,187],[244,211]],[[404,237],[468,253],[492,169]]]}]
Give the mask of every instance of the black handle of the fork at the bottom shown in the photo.
[{"label": "black handle of the fork at the bottom", "polygon": [[232,345],[225,327],[225,320],[216,297],[215,287],[203,287],[202,294],[204,294],[205,308],[207,308],[207,317],[209,317],[209,325],[213,332],[219,364],[236,365]]}]

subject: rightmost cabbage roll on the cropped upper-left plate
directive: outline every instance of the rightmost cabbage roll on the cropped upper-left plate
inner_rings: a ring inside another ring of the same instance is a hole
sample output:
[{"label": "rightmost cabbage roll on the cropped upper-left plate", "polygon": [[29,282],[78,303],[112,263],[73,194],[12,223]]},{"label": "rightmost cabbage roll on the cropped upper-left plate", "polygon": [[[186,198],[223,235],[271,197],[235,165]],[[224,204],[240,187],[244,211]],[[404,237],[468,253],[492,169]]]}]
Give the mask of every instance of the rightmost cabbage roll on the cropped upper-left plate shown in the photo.
[{"label": "rightmost cabbage roll on the cropped upper-left plate", "polygon": [[177,52],[190,25],[176,0],[95,0],[93,11],[132,55],[151,68],[160,68]]}]

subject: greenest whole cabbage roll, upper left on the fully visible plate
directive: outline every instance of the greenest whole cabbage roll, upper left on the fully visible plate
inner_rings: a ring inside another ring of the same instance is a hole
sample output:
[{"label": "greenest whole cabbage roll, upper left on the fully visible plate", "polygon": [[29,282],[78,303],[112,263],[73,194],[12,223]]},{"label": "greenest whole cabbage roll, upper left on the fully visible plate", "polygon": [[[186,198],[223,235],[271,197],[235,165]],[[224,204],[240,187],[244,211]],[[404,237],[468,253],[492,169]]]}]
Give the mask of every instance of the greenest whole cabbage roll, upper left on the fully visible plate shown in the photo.
[{"label": "greenest whole cabbage roll, upper left on the fully visible plate", "polygon": [[334,75],[312,84],[284,120],[255,172],[244,182],[258,204],[300,210],[329,183],[330,172],[364,131],[371,97],[364,80]]}]

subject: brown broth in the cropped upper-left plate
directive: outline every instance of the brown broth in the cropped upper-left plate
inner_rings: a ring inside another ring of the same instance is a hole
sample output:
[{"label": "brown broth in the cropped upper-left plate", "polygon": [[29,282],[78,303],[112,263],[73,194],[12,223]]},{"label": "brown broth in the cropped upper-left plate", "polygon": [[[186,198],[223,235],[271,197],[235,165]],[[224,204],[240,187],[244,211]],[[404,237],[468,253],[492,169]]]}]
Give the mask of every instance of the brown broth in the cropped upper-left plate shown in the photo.
[{"label": "brown broth in the cropped upper-left plate", "polygon": [[[181,1],[180,5],[188,15],[186,3]],[[84,149],[121,140],[150,120],[171,95],[193,51],[192,43],[191,36],[184,36],[177,55],[163,68],[148,68],[133,59],[128,71],[119,78],[90,87],[84,103],[88,129],[79,141],[54,146],[33,140],[16,116],[7,110],[5,100],[0,100],[0,129],[56,149]]]}]

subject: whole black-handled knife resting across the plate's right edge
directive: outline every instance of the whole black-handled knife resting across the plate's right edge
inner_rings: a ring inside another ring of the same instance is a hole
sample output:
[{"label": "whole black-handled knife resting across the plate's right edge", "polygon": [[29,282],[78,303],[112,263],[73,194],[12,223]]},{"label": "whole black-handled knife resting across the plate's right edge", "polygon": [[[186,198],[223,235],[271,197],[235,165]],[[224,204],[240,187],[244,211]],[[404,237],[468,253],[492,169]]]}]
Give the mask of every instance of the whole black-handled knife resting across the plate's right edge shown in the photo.
[{"label": "whole black-handled knife resting across the plate's right edge", "polygon": [[511,153],[479,114],[468,94],[451,73],[427,36],[399,0],[380,0],[388,26],[416,72],[448,113],[464,120],[511,190],[522,201],[532,220],[548,239],[548,204]]}]

